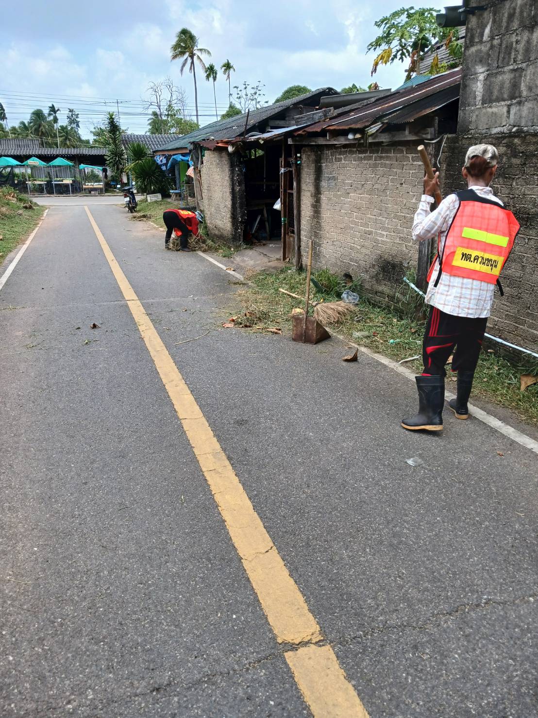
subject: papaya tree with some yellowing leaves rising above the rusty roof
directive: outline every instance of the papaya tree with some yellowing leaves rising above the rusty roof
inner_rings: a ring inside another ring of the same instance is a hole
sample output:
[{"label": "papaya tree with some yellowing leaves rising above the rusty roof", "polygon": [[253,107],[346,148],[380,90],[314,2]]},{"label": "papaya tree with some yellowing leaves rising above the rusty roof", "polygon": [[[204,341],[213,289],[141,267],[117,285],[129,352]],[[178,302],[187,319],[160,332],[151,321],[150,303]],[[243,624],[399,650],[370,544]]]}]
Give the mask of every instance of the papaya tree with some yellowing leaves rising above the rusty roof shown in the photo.
[{"label": "papaya tree with some yellowing leaves rising above the rusty roof", "polygon": [[[372,75],[379,65],[389,65],[395,60],[409,60],[406,80],[418,73],[420,60],[425,52],[433,50],[437,42],[445,41],[448,52],[454,57],[453,65],[461,64],[461,43],[458,42],[458,30],[453,27],[439,27],[435,22],[433,7],[414,7],[395,10],[390,15],[380,18],[374,23],[381,29],[379,34],[367,47],[370,50],[381,50],[372,65]],[[458,55],[460,56],[458,58]]]}]

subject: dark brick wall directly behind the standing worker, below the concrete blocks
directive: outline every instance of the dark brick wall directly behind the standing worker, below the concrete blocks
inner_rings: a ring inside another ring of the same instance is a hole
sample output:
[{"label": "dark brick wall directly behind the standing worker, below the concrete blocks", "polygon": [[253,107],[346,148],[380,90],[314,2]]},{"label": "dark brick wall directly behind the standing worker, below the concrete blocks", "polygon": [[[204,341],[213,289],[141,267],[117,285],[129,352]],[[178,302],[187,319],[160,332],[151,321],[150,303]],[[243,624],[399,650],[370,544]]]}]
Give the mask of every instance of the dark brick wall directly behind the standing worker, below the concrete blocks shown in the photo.
[{"label": "dark brick wall directly behind the standing worker, below the concrete blocks", "polygon": [[[499,169],[492,189],[516,215],[522,228],[501,275],[504,297],[496,300],[489,333],[538,350],[538,153],[537,135],[484,138],[499,150]],[[449,136],[443,157],[443,196],[466,188],[461,167],[476,134]]]}]

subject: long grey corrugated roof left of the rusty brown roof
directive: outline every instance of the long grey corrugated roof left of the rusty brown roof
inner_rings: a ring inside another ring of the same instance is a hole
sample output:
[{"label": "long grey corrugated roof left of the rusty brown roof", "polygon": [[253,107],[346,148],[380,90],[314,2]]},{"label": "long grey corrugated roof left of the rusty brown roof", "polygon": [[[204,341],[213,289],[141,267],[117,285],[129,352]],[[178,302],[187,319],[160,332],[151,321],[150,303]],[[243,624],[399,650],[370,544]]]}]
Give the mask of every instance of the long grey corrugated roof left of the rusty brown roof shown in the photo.
[{"label": "long grey corrugated roof left of the rusty brown roof", "polygon": [[[285,100],[283,102],[277,102],[274,105],[267,105],[260,107],[257,110],[251,110],[248,115],[247,133],[252,130],[258,123],[268,120],[269,118],[278,115],[283,110],[288,109],[296,105],[301,105],[310,100],[313,101],[317,106],[317,103],[321,99],[322,95],[337,95],[338,93],[334,88],[320,88],[313,90],[310,93],[299,95],[291,100]],[[247,121],[247,113],[242,115],[236,115],[235,117],[227,118],[226,120],[219,120],[217,122],[211,122],[209,125],[201,127],[199,130],[194,130],[187,135],[179,137],[179,139],[165,144],[159,149],[164,151],[170,151],[172,149],[183,148],[191,146],[194,142],[200,142],[203,140],[221,140],[221,139],[235,139],[245,131],[245,122]]]}]

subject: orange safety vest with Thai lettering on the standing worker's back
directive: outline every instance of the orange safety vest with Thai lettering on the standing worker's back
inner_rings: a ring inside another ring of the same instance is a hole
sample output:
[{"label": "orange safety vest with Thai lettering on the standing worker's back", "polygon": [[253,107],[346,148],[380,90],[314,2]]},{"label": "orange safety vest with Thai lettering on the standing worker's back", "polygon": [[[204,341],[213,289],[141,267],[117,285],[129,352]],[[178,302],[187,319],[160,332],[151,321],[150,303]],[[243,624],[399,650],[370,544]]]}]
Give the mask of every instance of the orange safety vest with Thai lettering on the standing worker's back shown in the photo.
[{"label": "orange safety vest with Thai lettering on the standing worker's back", "polygon": [[443,273],[500,285],[499,274],[514,246],[519,223],[509,210],[474,190],[463,190],[456,195],[460,205],[448,229],[443,250],[439,252],[438,247],[428,281],[440,256],[435,286]]}]

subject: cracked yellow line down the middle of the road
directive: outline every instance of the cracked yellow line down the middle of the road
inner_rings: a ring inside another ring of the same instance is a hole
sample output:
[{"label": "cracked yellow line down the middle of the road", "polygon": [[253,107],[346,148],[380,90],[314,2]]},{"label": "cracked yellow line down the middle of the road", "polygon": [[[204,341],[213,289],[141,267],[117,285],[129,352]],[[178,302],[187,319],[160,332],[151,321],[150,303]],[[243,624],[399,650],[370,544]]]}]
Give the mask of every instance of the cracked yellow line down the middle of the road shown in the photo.
[{"label": "cracked yellow line down the middle of the road", "polygon": [[331,646],[316,645],[323,638],[316,619],[87,206],[85,210],[275,637],[297,647],[284,656],[306,703],[316,718],[368,718]]}]

